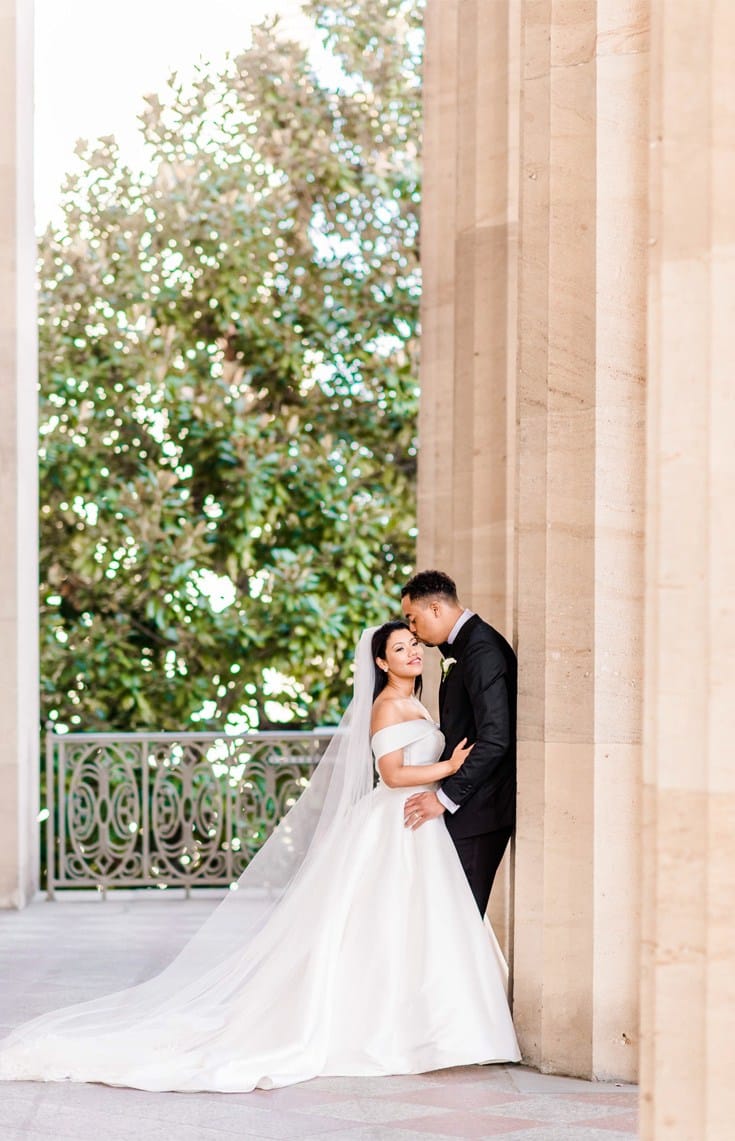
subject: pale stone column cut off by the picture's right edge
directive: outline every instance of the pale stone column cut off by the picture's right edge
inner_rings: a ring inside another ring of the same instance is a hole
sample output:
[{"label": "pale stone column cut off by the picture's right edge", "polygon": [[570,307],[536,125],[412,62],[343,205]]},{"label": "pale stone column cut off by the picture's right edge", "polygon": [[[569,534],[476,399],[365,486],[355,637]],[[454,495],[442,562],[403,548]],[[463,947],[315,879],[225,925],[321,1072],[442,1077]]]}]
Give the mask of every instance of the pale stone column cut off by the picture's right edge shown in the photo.
[{"label": "pale stone column cut off by the picture's right edge", "polygon": [[653,14],[641,1138],[729,1141],[735,7]]}]

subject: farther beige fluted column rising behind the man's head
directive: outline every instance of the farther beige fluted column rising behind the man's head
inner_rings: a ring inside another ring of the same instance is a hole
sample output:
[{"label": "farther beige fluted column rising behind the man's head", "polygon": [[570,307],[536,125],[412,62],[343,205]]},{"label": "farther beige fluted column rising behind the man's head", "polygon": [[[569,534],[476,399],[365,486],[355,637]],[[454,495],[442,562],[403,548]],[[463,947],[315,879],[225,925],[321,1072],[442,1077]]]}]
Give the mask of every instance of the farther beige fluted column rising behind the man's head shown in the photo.
[{"label": "farther beige fluted column rising behind the man's head", "polygon": [[[518,30],[517,2],[427,6],[418,564],[449,572],[509,639]],[[506,860],[491,914],[507,953],[509,889]]]}]

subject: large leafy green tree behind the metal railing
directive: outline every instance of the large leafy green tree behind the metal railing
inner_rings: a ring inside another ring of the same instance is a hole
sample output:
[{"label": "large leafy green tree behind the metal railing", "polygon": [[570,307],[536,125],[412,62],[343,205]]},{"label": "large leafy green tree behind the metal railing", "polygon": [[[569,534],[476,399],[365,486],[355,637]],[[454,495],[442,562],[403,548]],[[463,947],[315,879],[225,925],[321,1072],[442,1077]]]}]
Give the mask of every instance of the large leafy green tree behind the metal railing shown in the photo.
[{"label": "large leafy green tree behind the metal railing", "polygon": [[[413,563],[418,0],[312,2],[79,147],[41,241],[43,713],[332,718]],[[321,70],[320,70],[321,71]]]}]

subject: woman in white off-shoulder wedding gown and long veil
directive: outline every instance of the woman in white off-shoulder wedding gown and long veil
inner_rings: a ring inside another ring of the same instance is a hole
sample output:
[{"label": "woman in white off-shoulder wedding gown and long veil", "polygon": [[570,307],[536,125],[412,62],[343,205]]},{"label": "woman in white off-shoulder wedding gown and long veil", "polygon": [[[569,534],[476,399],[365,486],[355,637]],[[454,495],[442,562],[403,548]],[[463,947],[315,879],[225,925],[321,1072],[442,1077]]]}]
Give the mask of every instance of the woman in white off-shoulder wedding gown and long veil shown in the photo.
[{"label": "woman in white off-shoulder wedding gown and long veil", "polygon": [[236,890],[155,978],[17,1028],[0,1078],[243,1092],[518,1061],[504,962],[444,822],[403,822],[405,791],[469,753],[437,761],[421,665],[403,622],[366,630],[339,729]]}]

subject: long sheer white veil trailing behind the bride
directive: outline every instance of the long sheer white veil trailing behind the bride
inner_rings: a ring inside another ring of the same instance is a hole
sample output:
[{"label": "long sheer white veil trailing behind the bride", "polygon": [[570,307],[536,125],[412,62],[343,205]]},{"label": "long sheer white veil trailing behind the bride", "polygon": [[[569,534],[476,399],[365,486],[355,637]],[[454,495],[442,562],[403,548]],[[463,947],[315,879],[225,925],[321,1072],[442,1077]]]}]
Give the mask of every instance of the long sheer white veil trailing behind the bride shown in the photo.
[{"label": "long sheer white veil trailing behind the bride", "polygon": [[10,1059],[31,1053],[40,1041],[59,1047],[66,1039],[76,1047],[87,1042],[91,1052],[127,1031],[168,1044],[178,1028],[213,1031],[227,1003],[258,985],[265,964],[293,953],[315,901],[339,893],[348,875],[350,836],[368,808],[375,629],[360,639],[353,699],[307,788],[201,930],[148,981],[18,1027],[0,1044],[0,1077],[13,1076]]}]

